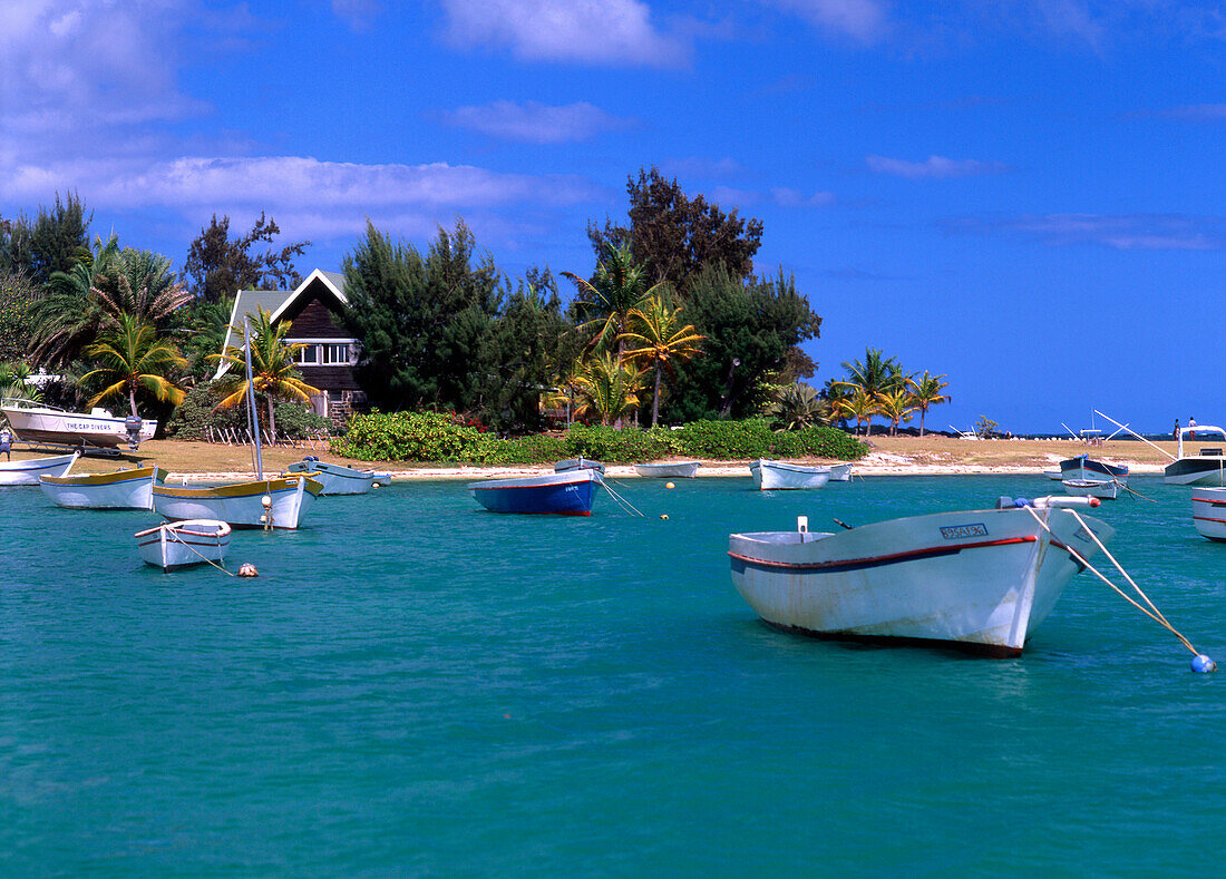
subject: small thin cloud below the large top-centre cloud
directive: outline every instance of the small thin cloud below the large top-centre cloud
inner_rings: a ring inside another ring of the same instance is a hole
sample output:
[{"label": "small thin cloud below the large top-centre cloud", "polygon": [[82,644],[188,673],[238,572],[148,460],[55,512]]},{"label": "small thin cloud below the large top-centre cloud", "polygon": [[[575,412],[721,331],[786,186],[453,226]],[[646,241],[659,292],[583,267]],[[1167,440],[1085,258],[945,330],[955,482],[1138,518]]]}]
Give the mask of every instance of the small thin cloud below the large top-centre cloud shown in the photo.
[{"label": "small thin cloud below the large top-centre cloud", "polygon": [[565,107],[549,107],[527,101],[495,101],[485,107],[460,107],[444,114],[457,127],[481,131],[501,140],[525,143],[566,143],[585,141],[603,131],[615,131],[633,125],[598,107],[580,102]]}]

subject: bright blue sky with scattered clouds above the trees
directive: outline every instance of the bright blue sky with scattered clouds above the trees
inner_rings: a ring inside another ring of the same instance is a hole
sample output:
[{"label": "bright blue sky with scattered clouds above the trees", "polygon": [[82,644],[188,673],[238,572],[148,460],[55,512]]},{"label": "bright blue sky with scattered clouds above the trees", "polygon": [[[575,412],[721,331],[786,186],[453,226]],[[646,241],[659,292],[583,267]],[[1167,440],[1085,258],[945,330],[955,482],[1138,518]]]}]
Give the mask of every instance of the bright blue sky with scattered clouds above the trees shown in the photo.
[{"label": "bright blue sky with scattered clouds above the trees", "polygon": [[764,222],[817,382],[872,346],[938,427],[1226,420],[1222,2],[21,0],[0,86],[0,215],[76,190],[177,265],[266,211],[304,271],[463,217],[586,275],[656,164]]}]

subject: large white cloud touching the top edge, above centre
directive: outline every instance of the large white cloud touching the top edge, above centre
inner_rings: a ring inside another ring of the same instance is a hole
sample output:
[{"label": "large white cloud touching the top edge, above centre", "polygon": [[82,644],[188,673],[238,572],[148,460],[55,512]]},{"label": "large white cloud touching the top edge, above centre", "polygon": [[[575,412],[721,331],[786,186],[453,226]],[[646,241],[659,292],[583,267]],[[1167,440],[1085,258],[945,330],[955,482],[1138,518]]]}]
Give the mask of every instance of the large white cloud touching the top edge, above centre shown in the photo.
[{"label": "large white cloud touching the top edge, above centre", "polygon": [[530,61],[676,66],[688,45],[662,34],[639,0],[441,0],[447,39],[460,47],[508,47]]}]

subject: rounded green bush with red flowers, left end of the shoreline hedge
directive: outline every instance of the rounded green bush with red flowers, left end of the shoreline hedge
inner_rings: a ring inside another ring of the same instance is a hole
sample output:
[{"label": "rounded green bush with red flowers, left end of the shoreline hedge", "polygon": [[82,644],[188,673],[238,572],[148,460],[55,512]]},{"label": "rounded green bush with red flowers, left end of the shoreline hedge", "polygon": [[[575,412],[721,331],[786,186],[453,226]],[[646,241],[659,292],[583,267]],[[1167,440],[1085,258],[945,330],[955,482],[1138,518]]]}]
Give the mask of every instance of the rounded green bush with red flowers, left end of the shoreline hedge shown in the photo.
[{"label": "rounded green bush with red flowers, left end of the shoreline hedge", "polygon": [[333,455],[363,461],[483,461],[494,438],[456,424],[444,412],[379,412],[349,418],[345,436],[333,436]]}]

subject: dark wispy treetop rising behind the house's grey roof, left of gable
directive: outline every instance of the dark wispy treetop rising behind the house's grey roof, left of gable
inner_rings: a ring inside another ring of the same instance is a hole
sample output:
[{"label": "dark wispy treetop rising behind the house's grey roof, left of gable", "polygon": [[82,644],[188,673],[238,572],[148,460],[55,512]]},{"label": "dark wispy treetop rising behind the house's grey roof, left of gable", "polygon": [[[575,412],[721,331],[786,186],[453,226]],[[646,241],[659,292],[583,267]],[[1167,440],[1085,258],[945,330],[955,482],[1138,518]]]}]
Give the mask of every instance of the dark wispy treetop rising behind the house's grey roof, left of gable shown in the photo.
[{"label": "dark wispy treetop rising behind the house's grey roof, left of gable", "polygon": [[216,303],[233,299],[242,289],[293,289],[302,283],[294,257],[302,256],[310,242],[251,253],[259,242],[271,243],[280,234],[277,222],[261,211],[249,233],[230,240],[229,217],[217,219],[215,213],[188,251],[184,271],[191,278],[190,292],[199,299]]}]

